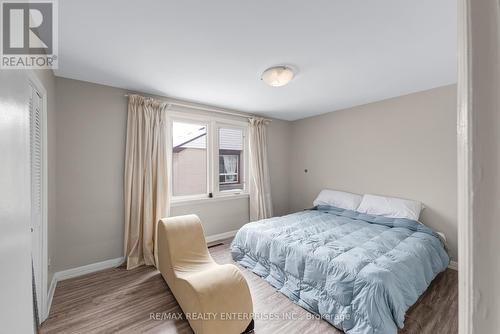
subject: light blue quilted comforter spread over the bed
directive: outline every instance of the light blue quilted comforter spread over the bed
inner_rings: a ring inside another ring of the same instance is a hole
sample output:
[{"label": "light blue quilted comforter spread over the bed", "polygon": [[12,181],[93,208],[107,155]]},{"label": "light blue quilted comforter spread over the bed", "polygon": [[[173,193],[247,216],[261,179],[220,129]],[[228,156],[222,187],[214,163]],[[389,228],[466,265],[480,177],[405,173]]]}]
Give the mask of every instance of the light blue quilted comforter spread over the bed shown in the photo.
[{"label": "light blue quilted comforter spread over the bed", "polygon": [[346,333],[397,333],[446,269],[439,236],[409,219],[318,207],[243,226],[233,259]]}]

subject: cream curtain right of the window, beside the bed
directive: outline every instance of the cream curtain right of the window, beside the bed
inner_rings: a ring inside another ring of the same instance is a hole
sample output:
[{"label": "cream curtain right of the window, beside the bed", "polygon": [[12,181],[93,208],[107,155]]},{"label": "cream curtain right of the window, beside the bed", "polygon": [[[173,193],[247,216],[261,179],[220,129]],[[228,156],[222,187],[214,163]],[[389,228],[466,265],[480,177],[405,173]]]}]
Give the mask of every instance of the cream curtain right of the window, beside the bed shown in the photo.
[{"label": "cream curtain right of the window, beside the bed", "polygon": [[267,162],[267,121],[250,119],[250,219],[272,217],[271,182]]}]

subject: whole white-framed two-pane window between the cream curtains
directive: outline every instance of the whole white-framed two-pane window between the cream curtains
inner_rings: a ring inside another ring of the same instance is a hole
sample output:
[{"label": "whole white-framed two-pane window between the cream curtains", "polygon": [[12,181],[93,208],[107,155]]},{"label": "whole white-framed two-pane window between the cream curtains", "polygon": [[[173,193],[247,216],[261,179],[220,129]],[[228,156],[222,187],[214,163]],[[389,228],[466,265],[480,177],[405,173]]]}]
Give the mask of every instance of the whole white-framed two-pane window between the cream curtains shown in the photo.
[{"label": "whole white-framed two-pane window between the cream curtains", "polygon": [[172,200],[246,192],[246,128],[245,122],[173,112]]}]

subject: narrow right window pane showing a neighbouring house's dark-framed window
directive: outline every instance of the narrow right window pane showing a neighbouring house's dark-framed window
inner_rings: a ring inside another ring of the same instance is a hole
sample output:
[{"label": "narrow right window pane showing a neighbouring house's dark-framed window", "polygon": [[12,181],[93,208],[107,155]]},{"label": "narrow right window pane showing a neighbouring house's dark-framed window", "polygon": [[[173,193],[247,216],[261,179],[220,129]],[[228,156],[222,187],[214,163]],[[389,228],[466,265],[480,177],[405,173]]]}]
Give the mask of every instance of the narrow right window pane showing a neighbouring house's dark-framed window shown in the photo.
[{"label": "narrow right window pane showing a neighbouring house's dark-framed window", "polygon": [[243,130],[219,129],[219,191],[243,190]]}]

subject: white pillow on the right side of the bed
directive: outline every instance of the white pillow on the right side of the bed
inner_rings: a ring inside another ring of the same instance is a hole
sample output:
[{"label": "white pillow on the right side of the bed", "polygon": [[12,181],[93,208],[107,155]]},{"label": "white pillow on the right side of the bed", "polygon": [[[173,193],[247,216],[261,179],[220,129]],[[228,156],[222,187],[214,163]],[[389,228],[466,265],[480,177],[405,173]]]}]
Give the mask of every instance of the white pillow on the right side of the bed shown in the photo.
[{"label": "white pillow on the right side of the bed", "polygon": [[364,195],[356,211],[389,218],[418,220],[422,203],[396,197]]}]

